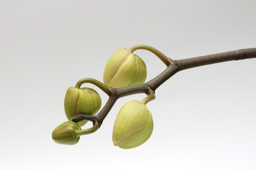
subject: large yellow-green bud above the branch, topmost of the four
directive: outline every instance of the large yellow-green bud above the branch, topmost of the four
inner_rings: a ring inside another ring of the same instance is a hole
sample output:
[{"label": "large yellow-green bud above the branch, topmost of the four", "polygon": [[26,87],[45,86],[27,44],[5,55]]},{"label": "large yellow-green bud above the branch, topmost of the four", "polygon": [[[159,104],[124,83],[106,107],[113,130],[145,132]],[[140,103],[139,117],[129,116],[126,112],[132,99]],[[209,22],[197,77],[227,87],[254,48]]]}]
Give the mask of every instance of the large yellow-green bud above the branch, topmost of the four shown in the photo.
[{"label": "large yellow-green bud above the branch, topmost of the four", "polygon": [[147,77],[145,62],[122,47],[111,55],[104,71],[104,84],[113,88],[143,84]]}]

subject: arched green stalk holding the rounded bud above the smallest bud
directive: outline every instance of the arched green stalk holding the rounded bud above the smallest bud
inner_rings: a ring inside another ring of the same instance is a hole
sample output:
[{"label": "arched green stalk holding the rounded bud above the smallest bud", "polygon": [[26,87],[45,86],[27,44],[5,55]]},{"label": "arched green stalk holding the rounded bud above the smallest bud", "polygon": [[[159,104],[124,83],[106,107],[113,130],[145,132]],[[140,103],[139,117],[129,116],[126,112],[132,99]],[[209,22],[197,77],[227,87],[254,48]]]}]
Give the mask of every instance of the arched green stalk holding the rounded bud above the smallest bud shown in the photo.
[{"label": "arched green stalk holding the rounded bud above the smallest bud", "polygon": [[79,81],[77,81],[77,84],[75,87],[80,88],[81,85],[84,83],[94,84],[95,86],[99,87],[99,89],[104,91],[108,96],[110,96],[112,94],[110,87],[106,86],[106,84],[101,83],[101,81],[98,81],[96,79],[91,79],[91,78],[80,79]]}]

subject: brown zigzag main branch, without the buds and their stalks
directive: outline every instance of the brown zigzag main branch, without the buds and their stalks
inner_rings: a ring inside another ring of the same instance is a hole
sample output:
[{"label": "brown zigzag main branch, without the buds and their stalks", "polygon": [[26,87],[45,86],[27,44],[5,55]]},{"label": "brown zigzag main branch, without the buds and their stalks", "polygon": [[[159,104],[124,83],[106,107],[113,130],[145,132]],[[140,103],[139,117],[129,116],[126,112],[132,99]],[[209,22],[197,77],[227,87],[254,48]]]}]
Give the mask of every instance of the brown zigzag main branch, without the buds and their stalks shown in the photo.
[{"label": "brown zigzag main branch, without the buds and their stalks", "polygon": [[83,115],[77,114],[77,115],[74,115],[72,120],[74,122],[79,122],[82,120],[91,120],[91,121],[96,120],[99,123],[99,125],[101,125],[103,123],[104,118],[106,118],[106,115],[108,115],[108,112],[111,110],[111,108],[113,107],[113,104],[116,103],[118,98],[132,95],[132,94],[138,94],[138,93],[146,94],[150,89],[152,89],[152,91],[155,91],[159,86],[161,86],[161,84],[167,81],[167,79],[169,79],[174,74],[184,69],[199,67],[206,64],[215,64],[218,62],[243,60],[243,59],[249,59],[249,58],[256,58],[256,48],[236,50],[231,52],[223,52],[215,55],[206,55],[202,57],[194,57],[194,58],[188,58],[184,60],[170,60],[170,61],[174,61],[174,64],[170,62],[167,69],[165,69],[164,72],[162,72],[157,77],[155,77],[154,79],[144,84],[127,86],[119,89],[111,89],[111,94],[109,95],[106,105],[104,106],[104,108],[101,109],[101,111],[96,116],[90,117],[90,116],[83,116]]}]

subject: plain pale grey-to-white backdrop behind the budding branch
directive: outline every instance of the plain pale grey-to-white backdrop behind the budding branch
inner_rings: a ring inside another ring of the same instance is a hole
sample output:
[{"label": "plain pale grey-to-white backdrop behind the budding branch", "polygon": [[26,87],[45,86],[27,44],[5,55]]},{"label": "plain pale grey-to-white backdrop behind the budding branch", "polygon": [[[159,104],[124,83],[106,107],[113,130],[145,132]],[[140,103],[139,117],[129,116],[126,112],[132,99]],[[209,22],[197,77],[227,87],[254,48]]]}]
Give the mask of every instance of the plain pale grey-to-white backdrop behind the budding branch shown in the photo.
[{"label": "plain pale grey-to-white backdrop behind the budding branch", "polygon": [[[152,136],[114,147],[117,101],[94,134],[52,141],[69,86],[102,81],[119,47],[145,44],[173,60],[256,47],[256,1],[0,1],[0,169],[256,169],[256,59],[179,72],[148,103]],[[165,69],[138,50],[147,81]],[[86,84],[84,86],[91,86]],[[102,98],[107,96],[95,86]]]}]

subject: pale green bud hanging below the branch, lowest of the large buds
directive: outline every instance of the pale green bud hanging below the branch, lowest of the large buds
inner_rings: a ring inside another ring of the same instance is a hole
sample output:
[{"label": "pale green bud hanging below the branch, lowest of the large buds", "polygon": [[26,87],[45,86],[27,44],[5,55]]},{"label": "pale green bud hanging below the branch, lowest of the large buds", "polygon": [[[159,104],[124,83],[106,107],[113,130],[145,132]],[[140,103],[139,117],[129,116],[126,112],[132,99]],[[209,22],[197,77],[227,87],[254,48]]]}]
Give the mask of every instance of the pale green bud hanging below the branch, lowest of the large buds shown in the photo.
[{"label": "pale green bud hanging below the branch, lowest of the large buds", "polygon": [[138,147],[150,138],[153,120],[145,104],[129,101],[118,112],[113,125],[113,145],[123,149]]}]

